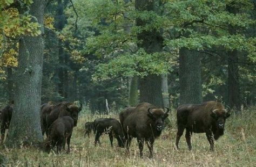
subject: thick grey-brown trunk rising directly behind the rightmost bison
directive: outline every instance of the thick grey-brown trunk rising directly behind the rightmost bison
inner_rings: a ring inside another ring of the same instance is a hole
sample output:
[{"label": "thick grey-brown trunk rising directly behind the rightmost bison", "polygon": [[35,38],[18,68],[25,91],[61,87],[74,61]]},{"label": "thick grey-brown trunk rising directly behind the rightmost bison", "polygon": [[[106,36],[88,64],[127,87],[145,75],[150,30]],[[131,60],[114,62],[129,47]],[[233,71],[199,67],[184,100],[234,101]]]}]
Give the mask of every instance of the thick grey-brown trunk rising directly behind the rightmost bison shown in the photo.
[{"label": "thick grey-brown trunk rising directly behind the rightmost bison", "polygon": [[181,48],[179,51],[180,104],[203,102],[200,55]]}]

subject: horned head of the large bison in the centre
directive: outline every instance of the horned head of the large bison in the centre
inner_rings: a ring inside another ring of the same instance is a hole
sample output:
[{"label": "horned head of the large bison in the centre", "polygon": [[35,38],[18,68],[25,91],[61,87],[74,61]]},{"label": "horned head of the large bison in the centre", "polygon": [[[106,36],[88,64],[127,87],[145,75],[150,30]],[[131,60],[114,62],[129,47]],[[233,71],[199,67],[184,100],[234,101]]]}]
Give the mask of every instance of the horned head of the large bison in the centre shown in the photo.
[{"label": "horned head of the large bison in the centre", "polygon": [[165,107],[167,109],[166,112],[164,112],[161,108],[154,108],[150,107],[147,109],[147,116],[154,121],[154,124],[156,125],[157,131],[161,131],[164,127],[164,120],[168,117],[169,108]]}]

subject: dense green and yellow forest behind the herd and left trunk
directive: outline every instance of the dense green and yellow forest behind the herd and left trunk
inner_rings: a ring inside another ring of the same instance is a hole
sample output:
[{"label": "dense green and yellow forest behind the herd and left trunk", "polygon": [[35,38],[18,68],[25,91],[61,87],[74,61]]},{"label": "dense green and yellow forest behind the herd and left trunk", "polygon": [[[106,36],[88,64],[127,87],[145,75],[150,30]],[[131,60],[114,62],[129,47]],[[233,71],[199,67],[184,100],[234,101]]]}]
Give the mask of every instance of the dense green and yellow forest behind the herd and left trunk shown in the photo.
[{"label": "dense green and yellow forest behind the herd and left trunk", "polygon": [[106,100],[115,112],[140,101],[256,103],[255,1],[46,1],[43,25],[4,2],[2,106],[16,95],[24,34],[44,40],[42,104],[80,100],[94,114]]}]

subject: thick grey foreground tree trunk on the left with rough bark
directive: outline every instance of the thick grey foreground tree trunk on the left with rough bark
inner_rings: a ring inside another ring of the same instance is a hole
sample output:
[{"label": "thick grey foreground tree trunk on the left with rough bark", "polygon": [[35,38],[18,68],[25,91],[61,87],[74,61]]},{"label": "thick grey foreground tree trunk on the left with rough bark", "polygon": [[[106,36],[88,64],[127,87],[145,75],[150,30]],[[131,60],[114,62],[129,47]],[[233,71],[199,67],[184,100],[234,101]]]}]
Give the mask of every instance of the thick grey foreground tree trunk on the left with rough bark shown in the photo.
[{"label": "thick grey foreground tree trunk on the left with rough bark", "polygon": [[[30,14],[43,25],[44,1],[34,0],[30,6]],[[43,51],[42,35],[24,36],[19,40],[14,112],[5,142],[9,147],[43,141],[40,125]]]}]

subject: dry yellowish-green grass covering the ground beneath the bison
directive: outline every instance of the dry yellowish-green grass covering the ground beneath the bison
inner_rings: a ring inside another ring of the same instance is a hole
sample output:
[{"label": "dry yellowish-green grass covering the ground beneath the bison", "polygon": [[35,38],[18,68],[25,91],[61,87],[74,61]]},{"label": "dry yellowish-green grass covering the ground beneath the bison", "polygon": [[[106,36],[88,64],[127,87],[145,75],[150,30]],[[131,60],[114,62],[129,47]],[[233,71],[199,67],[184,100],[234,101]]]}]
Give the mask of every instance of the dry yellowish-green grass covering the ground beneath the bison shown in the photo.
[{"label": "dry yellowish-green grass covering the ground beneath the bison", "polygon": [[[165,128],[154,143],[154,158],[149,159],[149,150],[144,145],[144,157],[139,157],[136,139],[132,140],[130,156],[124,148],[110,146],[108,135],[100,137],[101,145],[94,145],[94,136],[84,137],[86,121],[100,117],[82,114],[71,138],[71,153],[56,155],[36,148],[1,148],[5,166],[256,166],[256,112],[250,108],[238,115],[232,113],[226,120],[225,134],[215,142],[215,151],[210,151],[205,134],[192,135],[192,151],[188,151],[185,133],[177,150],[176,113],[170,114],[171,126]],[[104,115],[118,118],[118,115]]]}]

